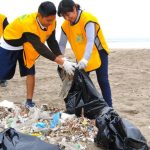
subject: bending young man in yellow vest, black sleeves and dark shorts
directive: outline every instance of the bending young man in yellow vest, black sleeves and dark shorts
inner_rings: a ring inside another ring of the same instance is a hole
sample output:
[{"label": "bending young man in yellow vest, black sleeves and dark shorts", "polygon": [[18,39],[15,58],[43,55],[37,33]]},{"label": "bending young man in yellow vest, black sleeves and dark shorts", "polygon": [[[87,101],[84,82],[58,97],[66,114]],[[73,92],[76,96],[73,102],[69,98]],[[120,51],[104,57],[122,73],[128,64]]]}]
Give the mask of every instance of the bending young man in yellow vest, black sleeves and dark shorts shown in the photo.
[{"label": "bending young man in yellow vest, black sleeves and dark shorts", "polygon": [[[14,76],[19,62],[21,76],[27,76],[26,107],[32,102],[35,85],[35,60],[40,56],[62,65],[67,73],[73,74],[75,63],[61,55],[55,39],[56,8],[52,2],[43,2],[38,13],[23,15],[15,19],[4,30],[0,47],[0,80]],[[44,43],[47,41],[48,48]]]}]

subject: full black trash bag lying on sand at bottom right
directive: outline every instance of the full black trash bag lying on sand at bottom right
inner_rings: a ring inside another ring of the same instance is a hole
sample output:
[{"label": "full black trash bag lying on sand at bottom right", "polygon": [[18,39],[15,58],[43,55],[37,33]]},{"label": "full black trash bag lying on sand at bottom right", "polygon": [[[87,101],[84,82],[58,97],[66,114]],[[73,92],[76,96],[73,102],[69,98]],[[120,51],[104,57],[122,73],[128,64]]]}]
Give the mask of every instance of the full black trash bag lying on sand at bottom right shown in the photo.
[{"label": "full black trash bag lying on sand at bottom right", "polygon": [[112,108],[96,118],[96,126],[98,133],[94,141],[106,150],[148,150],[140,130],[121,119]]}]

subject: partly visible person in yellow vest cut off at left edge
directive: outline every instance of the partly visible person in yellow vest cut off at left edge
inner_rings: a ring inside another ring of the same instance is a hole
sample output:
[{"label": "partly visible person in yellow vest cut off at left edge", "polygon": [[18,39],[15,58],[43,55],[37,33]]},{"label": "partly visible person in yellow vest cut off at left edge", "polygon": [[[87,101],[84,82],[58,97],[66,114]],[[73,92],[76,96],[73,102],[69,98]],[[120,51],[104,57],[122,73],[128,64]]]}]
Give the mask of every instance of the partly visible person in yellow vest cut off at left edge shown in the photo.
[{"label": "partly visible person in yellow vest cut off at left edge", "polygon": [[[3,35],[5,27],[8,25],[7,17],[3,14],[0,14],[0,38]],[[0,80],[0,86],[6,87],[7,81],[6,80]]]}]

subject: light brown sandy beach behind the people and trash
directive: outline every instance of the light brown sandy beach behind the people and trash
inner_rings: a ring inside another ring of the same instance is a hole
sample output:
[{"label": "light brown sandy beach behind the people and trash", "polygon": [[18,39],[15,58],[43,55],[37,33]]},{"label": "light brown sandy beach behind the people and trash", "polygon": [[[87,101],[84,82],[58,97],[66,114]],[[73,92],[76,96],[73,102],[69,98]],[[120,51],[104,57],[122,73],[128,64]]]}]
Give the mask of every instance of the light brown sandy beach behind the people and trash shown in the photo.
[{"label": "light brown sandy beach behind the people and trash", "polygon": [[[73,59],[69,50],[67,56]],[[43,57],[37,60],[34,101],[64,108],[63,99],[59,97],[62,82],[56,68],[55,63]],[[91,78],[100,91],[94,72]],[[150,49],[112,49],[109,80],[114,109],[138,127],[150,145]],[[25,78],[20,78],[17,67],[8,86],[0,87],[0,101],[23,103],[26,99],[25,82]]]}]

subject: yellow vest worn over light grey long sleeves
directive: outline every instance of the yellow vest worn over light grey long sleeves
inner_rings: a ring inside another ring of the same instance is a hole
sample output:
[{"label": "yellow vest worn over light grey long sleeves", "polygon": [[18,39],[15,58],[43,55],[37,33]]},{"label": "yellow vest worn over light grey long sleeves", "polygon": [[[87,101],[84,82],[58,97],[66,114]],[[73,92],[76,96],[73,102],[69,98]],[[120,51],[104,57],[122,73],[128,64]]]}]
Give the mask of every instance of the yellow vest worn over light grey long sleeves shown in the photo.
[{"label": "yellow vest worn over light grey long sleeves", "polygon": [[[82,12],[79,21],[75,25],[71,25],[70,22],[67,20],[65,20],[64,23],[62,24],[62,29],[67,36],[67,39],[71,45],[71,48],[78,62],[83,58],[85,52],[87,44],[85,27],[86,24],[89,22],[93,22],[95,24],[96,29],[95,35],[98,37],[102,45],[102,48],[107,53],[109,53],[109,49],[104,39],[98,20],[90,13]],[[85,71],[95,70],[99,68],[100,65],[101,59],[98,53],[98,48],[96,44],[94,44],[92,54],[88,61],[87,67],[85,68]]]}]

